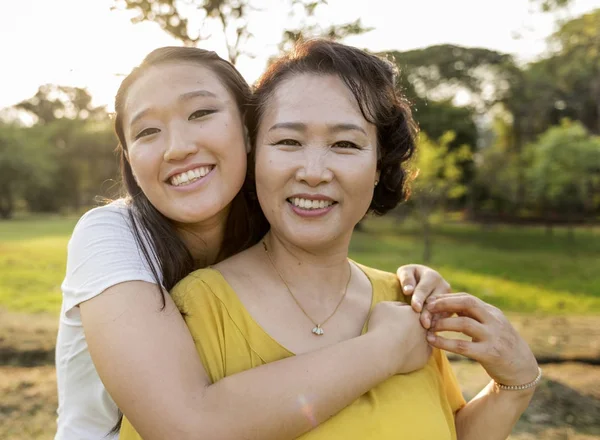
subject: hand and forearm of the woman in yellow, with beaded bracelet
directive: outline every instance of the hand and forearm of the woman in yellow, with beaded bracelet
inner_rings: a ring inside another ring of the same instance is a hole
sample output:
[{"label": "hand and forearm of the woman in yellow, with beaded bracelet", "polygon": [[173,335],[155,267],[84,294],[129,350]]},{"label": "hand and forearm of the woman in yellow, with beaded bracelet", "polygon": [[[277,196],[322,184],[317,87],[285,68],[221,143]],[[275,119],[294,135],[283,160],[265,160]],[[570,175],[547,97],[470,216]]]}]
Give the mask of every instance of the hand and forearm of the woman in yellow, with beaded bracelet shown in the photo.
[{"label": "hand and forearm of the woman in yellow, with beaded bracelet", "polygon": [[[504,385],[525,385],[536,379],[539,370],[531,349],[496,307],[468,294],[453,294],[430,299],[427,308],[432,313],[458,314],[434,322],[428,334],[432,346],[476,360]],[[472,341],[434,334],[440,331],[461,332]],[[491,382],[456,414],[458,439],[506,439],[534,390],[501,390]]]}]

